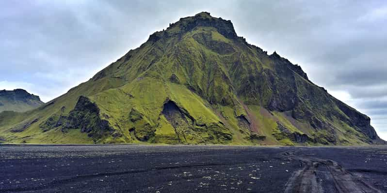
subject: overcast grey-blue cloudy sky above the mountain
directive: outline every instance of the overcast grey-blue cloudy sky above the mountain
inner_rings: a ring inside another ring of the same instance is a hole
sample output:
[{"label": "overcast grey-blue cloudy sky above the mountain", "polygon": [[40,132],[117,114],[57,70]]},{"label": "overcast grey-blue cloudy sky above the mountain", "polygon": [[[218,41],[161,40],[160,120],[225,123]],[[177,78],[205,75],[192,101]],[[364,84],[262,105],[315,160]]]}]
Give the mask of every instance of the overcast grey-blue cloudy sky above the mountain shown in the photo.
[{"label": "overcast grey-blue cloudy sky above the mountain", "polygon": [[300,65],[371,117],[387,140],[385,0],[2,0],[0,90],[58,97],[166,29],[207,11],[239,36]]}]

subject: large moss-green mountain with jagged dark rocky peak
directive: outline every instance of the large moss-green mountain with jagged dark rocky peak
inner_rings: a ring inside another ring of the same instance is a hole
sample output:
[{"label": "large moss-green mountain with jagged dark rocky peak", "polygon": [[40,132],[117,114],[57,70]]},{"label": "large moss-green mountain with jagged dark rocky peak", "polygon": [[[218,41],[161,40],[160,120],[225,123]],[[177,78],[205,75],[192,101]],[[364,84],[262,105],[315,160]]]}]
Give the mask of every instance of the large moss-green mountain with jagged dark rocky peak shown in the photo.
[{"label": "large moss-green mountain with jagged dark rocky peak", "polygon": [[0,114],[10,143],[366,145],[370,118],[313,84],[300,66],[202,12],[47,104]]}]

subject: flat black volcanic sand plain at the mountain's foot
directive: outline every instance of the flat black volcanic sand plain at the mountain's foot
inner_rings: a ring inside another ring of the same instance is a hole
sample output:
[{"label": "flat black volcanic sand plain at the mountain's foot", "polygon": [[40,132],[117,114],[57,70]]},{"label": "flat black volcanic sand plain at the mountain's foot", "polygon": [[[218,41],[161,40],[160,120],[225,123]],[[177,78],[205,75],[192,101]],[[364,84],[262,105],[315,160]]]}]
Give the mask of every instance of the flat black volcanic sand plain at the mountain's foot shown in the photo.
[{"label": "flat black volcanic sand plain at the mountain's foot", "polygon": [[0,192],[387,192],[387,147],[2,145]]}]

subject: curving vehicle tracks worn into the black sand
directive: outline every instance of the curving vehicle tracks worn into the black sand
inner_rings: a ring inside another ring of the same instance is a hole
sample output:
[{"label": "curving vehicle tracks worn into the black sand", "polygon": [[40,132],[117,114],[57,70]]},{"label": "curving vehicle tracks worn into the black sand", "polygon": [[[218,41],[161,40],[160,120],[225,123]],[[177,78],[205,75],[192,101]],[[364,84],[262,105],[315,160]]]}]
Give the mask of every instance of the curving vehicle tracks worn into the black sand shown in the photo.
[{"label": "curving vehicle tracks worn into the black sand", "polygon": [[[298,156],[294,152],[283,155],[300,161],[304,166],[293,173],[286,183],[285,193],[382,193],[335,161]],[[319,172],[326,172],[328,179],[334,182],[332,190],[323,189],[323,179],[317,178]]]}]

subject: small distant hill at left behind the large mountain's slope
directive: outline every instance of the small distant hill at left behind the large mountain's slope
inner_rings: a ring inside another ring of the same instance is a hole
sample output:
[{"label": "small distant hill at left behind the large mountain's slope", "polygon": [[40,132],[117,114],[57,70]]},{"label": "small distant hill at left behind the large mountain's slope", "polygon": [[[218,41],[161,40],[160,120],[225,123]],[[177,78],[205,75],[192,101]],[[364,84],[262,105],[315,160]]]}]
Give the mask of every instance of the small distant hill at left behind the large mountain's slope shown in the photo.
[{"label": "small distant hill at left behind the large mountain's slope", "polygon": [[44,104],[39,96],[24,89],[0,90],[0,112],[25,112]]}]

